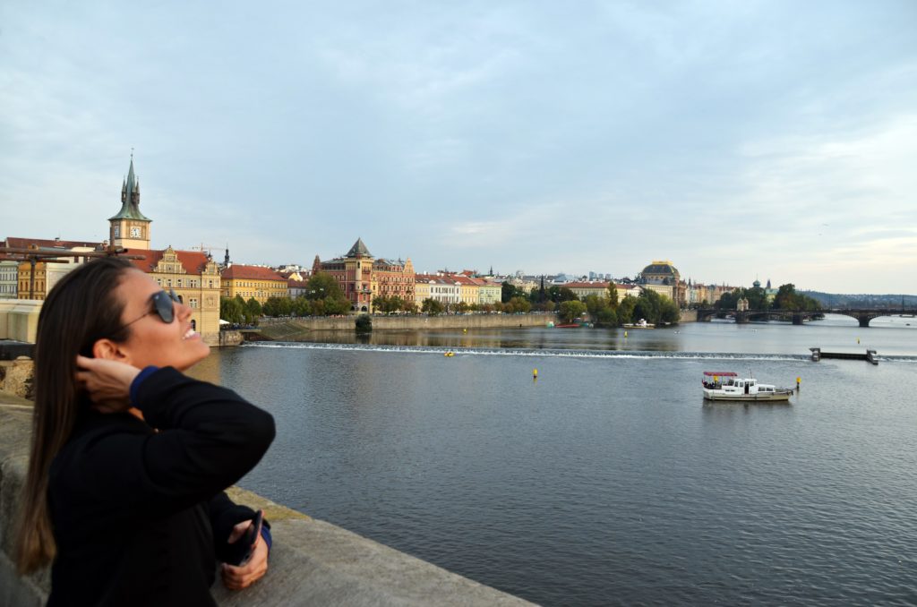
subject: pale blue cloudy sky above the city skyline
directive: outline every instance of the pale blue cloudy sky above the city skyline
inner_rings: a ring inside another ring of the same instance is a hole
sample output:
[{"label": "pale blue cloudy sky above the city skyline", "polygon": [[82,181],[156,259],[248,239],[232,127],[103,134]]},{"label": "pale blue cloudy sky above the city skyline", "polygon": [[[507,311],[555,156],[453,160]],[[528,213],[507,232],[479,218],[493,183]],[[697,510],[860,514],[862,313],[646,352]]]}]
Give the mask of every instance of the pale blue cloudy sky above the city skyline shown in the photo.
[{"label": "pale blue cloudy sky above the city skyline", "polygon": [[0,3],[0,237],[917,293],[917,2]]}]

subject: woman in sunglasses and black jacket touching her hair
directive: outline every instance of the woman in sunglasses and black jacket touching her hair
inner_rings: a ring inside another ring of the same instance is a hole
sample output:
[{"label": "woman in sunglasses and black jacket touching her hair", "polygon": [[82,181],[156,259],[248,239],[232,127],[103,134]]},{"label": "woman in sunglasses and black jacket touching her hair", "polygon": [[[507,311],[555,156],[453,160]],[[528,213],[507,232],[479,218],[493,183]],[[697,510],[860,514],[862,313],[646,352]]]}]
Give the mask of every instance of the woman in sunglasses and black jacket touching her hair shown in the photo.
[{"label": "woman in sunglasses and black jacket touching her hair", "polygon": [[[17,566],[52,561],[49,605],[207,605],[251,509],[223,490],[273,440],[270,414],[182,375],[209,354],[191,310],[124,259],[89,262],[39,316]],[[230,589],[264,575],[259,536]]]}]

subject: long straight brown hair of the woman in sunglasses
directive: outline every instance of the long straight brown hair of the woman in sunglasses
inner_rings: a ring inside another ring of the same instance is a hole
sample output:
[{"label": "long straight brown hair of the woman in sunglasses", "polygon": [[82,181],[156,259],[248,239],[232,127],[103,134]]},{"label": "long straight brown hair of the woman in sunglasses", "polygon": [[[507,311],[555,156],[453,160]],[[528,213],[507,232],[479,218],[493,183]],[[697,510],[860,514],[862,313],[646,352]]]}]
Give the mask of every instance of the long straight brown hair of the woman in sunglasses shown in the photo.
[{"label": "long straight brown hair of the woman in sunglasses", "polygon": [[76,355],[92,356],[102,338],[127,338],[124,302],[116,290],[131,268],[127,259],[95,259],[58,282],[41,306],[35,348],[35,411],[31,457],[19,503],[16,563],[20,574],[44,567],[56,546],[48,504],[51,461],[67,443],[77,415],[89,401],[75,380]]}]

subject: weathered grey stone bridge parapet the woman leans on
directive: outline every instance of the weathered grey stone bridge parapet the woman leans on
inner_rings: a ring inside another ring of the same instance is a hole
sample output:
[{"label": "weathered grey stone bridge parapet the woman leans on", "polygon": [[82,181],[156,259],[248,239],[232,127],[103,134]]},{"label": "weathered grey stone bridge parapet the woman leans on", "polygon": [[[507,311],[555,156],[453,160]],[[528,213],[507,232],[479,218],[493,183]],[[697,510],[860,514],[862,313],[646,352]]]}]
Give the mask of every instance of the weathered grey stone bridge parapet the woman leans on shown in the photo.
[{"label": "weathered grey stone bridge parapet the woman leans on", "polygon": [[[0,392],[0,607],[39,607],[50,590],[47,569],[19,578],[11,557],[31,409],[29,401]],[[234,501],[265,511],[274,543],[267,575],[249,589],[226,590],[217,579],[212,591],[219,605],[531,604],[255,493],[228,492]]]}]

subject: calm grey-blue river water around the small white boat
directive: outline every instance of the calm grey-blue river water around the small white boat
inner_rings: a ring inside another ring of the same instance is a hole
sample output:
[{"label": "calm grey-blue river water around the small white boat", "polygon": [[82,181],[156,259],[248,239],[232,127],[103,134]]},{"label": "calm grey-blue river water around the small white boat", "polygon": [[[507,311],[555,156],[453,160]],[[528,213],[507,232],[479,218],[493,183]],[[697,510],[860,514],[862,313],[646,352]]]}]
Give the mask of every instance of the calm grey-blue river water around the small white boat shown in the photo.
[{"label": "calm grey-blue river water around the small white boat", "polygon": [[[278,421],[243,486],[548,605],[917,602],[914,319],[370,342],[204,361]],[[702,401],[749,369],[801,392]]]}]

